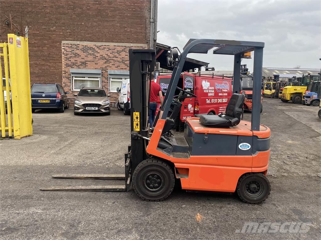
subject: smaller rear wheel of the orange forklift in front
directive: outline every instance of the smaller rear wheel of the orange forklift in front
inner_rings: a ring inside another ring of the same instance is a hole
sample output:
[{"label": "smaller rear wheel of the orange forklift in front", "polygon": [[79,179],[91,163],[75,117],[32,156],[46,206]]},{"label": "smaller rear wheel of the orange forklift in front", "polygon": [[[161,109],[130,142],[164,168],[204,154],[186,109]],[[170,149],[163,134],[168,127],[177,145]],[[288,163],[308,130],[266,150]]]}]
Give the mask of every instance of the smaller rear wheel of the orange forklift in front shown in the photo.
[{"label": "smaller rear wheel of the orange forklift in front", "polygon": [[259,204],[269,197],[271,184],[262,173],[247,173],[239,179],[236,192],[243,202]]}]

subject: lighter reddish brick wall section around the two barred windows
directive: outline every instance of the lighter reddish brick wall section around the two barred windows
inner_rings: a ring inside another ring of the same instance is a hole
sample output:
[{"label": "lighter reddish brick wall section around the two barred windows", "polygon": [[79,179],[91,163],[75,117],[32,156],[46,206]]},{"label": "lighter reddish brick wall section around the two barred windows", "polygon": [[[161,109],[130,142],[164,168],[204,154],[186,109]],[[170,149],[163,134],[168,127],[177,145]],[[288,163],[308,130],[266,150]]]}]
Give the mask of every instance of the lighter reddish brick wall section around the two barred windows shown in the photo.
[{"label": "lighter reddish brick wall section around the two barred windows", "polygon": [[[124,43],[92,43],[63,42],[62,43],[62,73],[65,91],[71,91],[70,69],[100,69],[101,85],[108,92],[108,70],[128,70],[128,50],[130,48],[145,49],[147,44]],[[117,92],[109,92],[111,101],[118,101]],[[73,103],[73,101],[70,101]]]}]

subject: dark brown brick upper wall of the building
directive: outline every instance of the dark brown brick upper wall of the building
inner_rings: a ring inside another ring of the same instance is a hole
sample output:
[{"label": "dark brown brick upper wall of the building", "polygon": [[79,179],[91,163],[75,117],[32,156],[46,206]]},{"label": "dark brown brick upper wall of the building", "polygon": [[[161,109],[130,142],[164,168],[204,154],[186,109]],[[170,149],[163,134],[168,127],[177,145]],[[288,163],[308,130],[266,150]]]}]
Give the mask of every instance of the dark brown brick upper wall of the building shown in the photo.
[{"label": "dark brown brick upper wall of the building", "polygon": [[0,21],[12,14],[29,26],[31,84],[61,84],[62,41],[148,44],[150,8],[151,0],[0,0]]}]

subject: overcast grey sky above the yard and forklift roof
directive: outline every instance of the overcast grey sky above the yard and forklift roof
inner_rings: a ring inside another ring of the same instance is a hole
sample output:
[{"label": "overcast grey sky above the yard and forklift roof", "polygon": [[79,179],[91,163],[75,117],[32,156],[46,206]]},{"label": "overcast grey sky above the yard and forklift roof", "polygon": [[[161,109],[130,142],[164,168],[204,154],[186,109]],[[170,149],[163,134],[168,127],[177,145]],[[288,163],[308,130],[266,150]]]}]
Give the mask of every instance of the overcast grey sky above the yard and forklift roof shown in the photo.
[{"label": "overcast grey sky above the yard and forklift roof", "polygon": [[[321,67],[320,0],[159,0],[158,30],[158,43],[181,51],[190,38],[258,41],[265,42],[263,67]],[[188,57],[209,62],[215,70],[233,68],[232,56]],[[252,71],[253,59],[242,63]]]}]

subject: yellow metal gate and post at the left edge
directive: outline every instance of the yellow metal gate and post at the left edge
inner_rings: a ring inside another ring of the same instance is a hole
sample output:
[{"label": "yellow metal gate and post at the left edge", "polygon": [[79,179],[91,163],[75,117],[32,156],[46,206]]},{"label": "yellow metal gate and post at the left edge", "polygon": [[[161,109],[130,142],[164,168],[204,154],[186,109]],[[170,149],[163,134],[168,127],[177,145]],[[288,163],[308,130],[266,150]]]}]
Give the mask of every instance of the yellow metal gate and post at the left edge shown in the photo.
[{"label": "yellow metal gate and post at the left edge", "polygon": [[8,44],[0,44],[0,65],[1,137],[20,139],[30,136],[32,114],[28,38],[8,34]]}]

